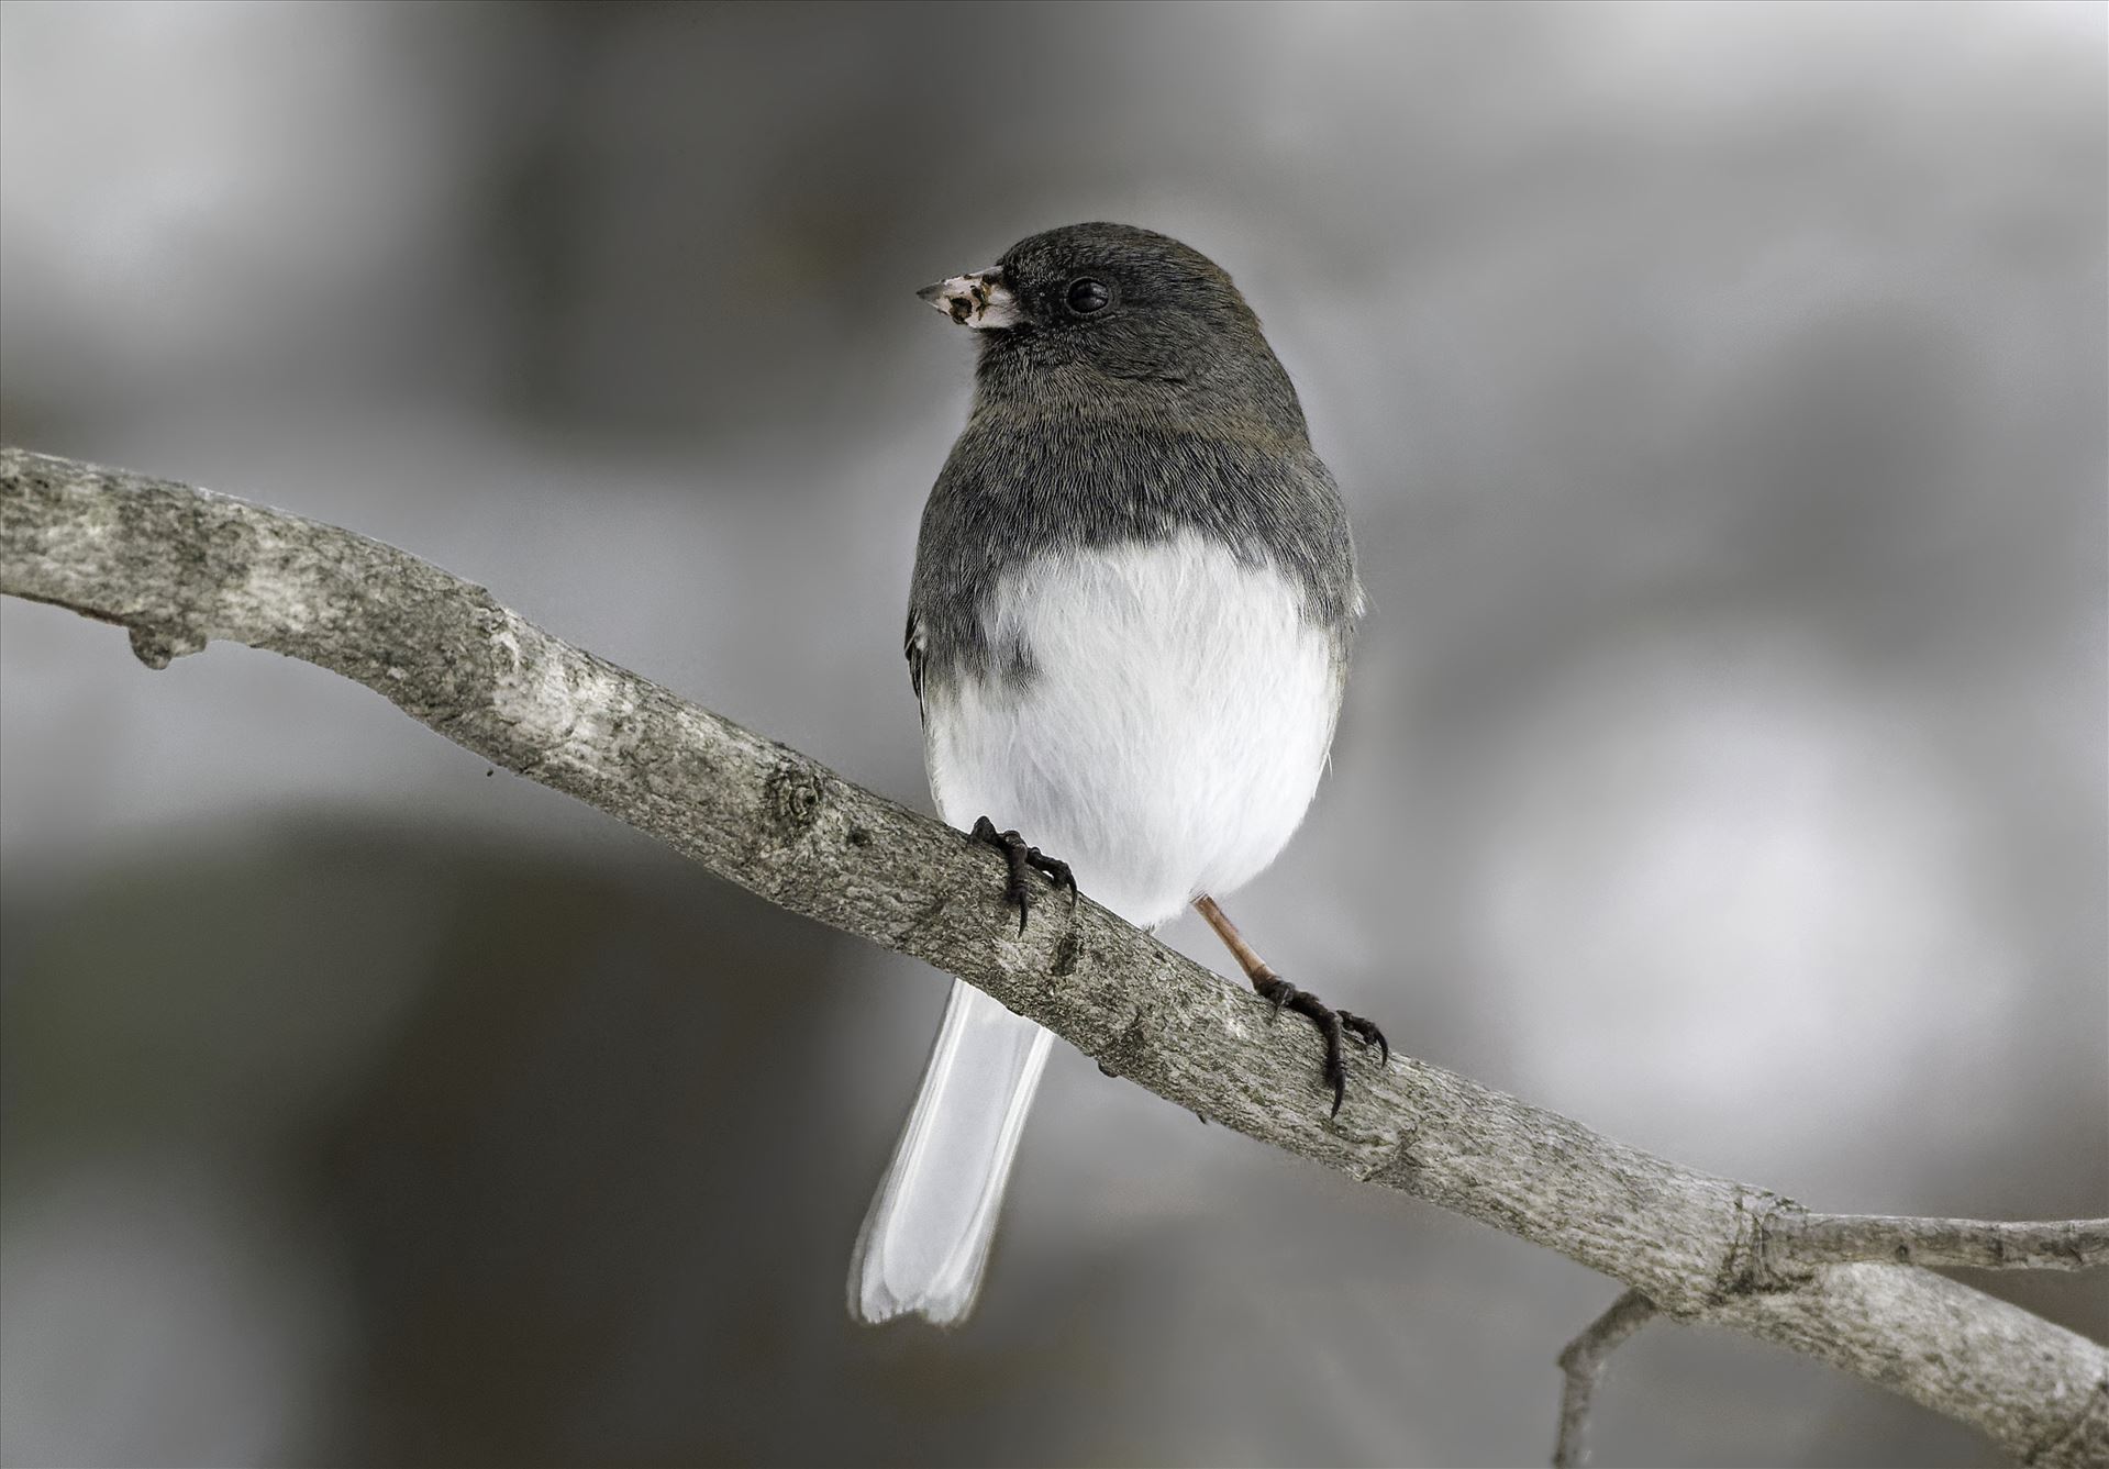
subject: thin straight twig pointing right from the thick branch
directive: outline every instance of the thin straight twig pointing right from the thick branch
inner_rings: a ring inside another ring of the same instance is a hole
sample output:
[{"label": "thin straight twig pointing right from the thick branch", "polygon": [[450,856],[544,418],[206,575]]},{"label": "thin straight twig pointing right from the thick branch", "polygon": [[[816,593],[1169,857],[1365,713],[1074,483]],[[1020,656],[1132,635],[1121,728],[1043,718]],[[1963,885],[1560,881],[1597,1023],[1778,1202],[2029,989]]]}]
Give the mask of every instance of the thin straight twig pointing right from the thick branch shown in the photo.
[{"label": "thin straight twig pointing right from the thick branch", "polygon": [[1767,1254],[1799,1265],[1942,1265],[1978,1271],[2092,1271],[2109,1265],[2109,1218],[1997,1220],[1784,1214]]}]

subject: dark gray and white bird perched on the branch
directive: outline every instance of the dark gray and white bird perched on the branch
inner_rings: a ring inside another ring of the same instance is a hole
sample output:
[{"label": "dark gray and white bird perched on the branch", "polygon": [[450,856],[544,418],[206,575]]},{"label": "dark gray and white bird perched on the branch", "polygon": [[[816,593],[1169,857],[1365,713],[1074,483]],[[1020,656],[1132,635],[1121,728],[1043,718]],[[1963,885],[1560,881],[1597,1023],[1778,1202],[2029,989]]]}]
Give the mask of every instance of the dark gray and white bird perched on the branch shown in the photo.
[{"label": "dark gray and white bird perched on the branch", "polygon": [[[1289,373],[1223,270],[1130,226],[1036,234],[922,297],[981,344],[909,594],[939,811],[1006,854],[1021,929],[1036,868],[1139,927],[1192,902],[1320,1029],[1339,1111],[1341,1035],[1390,1056],[1381,1033],[1274,974],[1213,898],[1303,820],[1362,613]],[[951,986],[852,1315],[972,1309],[1052,1039]]]}]

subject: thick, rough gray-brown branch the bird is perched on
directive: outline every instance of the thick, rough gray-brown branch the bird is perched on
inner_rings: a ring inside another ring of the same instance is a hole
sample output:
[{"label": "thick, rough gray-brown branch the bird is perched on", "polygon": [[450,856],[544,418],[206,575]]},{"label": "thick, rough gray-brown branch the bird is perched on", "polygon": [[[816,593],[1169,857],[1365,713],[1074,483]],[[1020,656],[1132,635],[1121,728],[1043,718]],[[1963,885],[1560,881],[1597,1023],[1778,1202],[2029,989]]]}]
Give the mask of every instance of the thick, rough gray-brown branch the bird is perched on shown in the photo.
[{"label": "thick, rough gray-brown branch the bird is perched on", "polygon": [[1976,1425],[2020,1461],[2109,1461],[2101,1345],[1921,1269],[1793,1260],[1791,1248],[1786,1273],[1767,1241],[1778,1256],[1793,1235],[1803,1212],[1791,1199],[1419,1060],[1379,1071],[1365,1058],[1329,1119],[1316,1035],[1268,1024],[1251,991],[1088,898],[1046,904],[1050,921],[1019,936],[987,847],[392,546],[0,449],[0,590],[127,626],[156,668],[211,639],[331,668],[774,904],[987,991],[1179,1106],[1559,1250],[1664,1315],[1820,1357]]}]

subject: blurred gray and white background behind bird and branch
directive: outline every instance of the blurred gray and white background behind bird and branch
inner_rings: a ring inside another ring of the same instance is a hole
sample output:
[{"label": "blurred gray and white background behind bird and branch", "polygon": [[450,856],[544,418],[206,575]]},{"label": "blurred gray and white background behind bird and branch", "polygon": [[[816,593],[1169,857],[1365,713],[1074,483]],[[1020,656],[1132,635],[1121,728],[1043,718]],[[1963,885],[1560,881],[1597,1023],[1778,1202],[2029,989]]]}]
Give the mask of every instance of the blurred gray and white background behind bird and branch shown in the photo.
[{"label": "blurred gray and white background behind bird and branch", "polygon": [[[1259,946],[1818,1208],[2105,1214],[2105,177],[2096,4],[8,2],[0,436],[924,801],[911,293],[1166,230],[1375,605]],[[941,976],[314,668],[0,639],[6,1463],[1546,1456],[1609,1281],[1073,1052],[972,1324],[852,1328]],[[1668,1326],[1599,1456],[1993,1461]]]}]

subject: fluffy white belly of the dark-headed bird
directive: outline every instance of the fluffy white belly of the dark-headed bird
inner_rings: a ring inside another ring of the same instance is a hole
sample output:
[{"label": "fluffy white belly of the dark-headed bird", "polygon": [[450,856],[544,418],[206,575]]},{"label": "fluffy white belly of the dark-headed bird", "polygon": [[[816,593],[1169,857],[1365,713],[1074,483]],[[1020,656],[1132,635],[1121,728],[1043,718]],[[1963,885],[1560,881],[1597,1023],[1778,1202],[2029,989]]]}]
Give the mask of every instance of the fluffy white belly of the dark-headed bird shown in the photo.
[{"label": "fluffy white belly of the dark-headed bird", "polygon": [[[987,641],[995,670],[924,689],[953,826],[1014,826],[1152,925],[1257,875],[1303,820],[1341,674],[1272,567],[1194,533],[1046,556],[998,584]],[[1012,649],[1029,674],[1004,677]]]}]

